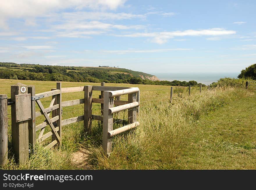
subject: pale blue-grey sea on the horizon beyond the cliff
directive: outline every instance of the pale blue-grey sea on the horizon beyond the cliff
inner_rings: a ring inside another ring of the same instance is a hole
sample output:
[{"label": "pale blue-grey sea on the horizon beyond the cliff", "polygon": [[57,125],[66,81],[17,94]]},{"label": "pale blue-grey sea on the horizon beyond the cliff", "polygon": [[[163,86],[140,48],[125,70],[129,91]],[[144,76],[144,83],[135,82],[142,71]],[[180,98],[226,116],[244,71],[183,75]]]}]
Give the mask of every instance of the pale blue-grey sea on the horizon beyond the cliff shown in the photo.
[{"label": "pale blue-grey sea on the horizon beyond the cliff", "polygon": [[213,82],[217,82],[220,78],[231,77],[237,78],[239,73],[150,73],[157,76],[160,80],[179,80],[189,82],[194,80],[198,83],[210,85]]}]

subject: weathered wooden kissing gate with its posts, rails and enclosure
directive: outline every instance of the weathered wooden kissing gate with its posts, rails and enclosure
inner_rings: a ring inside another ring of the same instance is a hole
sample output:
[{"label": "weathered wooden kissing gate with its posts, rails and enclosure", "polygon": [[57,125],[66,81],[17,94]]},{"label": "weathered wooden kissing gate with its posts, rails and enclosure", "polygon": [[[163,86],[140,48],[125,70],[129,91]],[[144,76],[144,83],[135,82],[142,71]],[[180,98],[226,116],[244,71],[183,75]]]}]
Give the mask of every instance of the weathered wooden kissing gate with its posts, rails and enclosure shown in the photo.
[{"label": "weathered wooden kissing gate with its posts, rails and enclosure", "polygon": [[[83,98],[62,102],[62,93],[79,91],[84,91]],[[99,98],[93,98],[93,91],[101,91]],[[121,95],[128,95],[128,101],[120,100]],[[4,165],[7,162],[7,105],[11,105],[12,146],[14,154],[18,163],[24,164],[29,159],[29,151],[33,152],[37,142],[42,143],[51,137],[51,143],[45,146],[45,149],[56,145],[61,146],[62,127],[79,121],[83,121],[83,131],[85,133],[90,133],[92,120],[102,122],[102,147],[106,155],[109,156],[112,152],[112,137],[139,126],[139,122],[136,121],[140,105],[139,95],[139,88],[104,86],[104,83],[101,86],[62,88],[61,82],[57,82],[56,88],[39,94],[35,94],[34,86],[26,86],[21,83],[11,86],[10,99],[7,99],[6,95],[0,95],[0,116],[4,116],[0,119],[0,135],[3,137],[0,146],[0,165]],[[41,99],[46,97],[52,97],[47,108],[41,102]],[[35,103],[38,104],[40,111],[35,110]],[[101,104],[101,115],[92,114],[93,103]],[[62,108],[78,104],[84,104],[83,115],[62,120]],[[127,121],[113,118],[114,113],[127,109]],[[51,118],[50,113],[52,113]],[[36,118],[41,115],[45,117],[45,121],[36,125]],[[119,124],[127,123],[127,125],[113,130],[114,122]],[[44,134],[47,126],[50,127],[51,131]],[[38,138],[36,138],[37,131],[40,131]]]}]

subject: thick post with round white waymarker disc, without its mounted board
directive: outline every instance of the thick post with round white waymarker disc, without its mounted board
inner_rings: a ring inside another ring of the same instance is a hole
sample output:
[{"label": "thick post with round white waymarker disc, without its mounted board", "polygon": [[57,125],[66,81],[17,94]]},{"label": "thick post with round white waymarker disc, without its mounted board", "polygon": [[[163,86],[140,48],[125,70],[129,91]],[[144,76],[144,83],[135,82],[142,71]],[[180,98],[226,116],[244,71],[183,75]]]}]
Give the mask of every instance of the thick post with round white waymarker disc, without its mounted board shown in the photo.
[{"label": "thick post with round white waymarker disc, without its mounted board", "polygon": [[[11,86],[11,101],[15,102],[15,95],[27,94],[28,87],[25,84],[17,83],[16,85]],[[17,104],[17,102],[15,102]],[[12,145],[14,155],[17,158],[19,164],[24,164],[29,160],[29,122],[28,120],[17,122],[16,120],[16,106],[15,104],[11,105],[12,110]],[[29,107],[29,105],[26,105]],[[22,109],[26,109],[25,105],[20,109],[18,114]],[[18,116],[19,117],[19,116]]]}]

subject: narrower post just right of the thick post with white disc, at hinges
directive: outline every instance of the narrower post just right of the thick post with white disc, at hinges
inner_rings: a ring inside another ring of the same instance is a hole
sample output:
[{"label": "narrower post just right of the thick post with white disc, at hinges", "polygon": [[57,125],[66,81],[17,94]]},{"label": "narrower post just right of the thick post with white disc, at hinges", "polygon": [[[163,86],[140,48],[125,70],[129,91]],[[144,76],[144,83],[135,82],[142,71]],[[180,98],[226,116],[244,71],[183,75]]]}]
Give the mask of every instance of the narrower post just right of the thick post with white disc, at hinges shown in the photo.
[{"label": "narrower post just right of the thick post with white disc, at hinges", "polygon": [[[35,86],[28,86],[28,93],[32,96],[35,96]],[[29,120],[29,144],[31,146],[31,153],[35,148],[35,101],[31,101],[31,120]]]}]

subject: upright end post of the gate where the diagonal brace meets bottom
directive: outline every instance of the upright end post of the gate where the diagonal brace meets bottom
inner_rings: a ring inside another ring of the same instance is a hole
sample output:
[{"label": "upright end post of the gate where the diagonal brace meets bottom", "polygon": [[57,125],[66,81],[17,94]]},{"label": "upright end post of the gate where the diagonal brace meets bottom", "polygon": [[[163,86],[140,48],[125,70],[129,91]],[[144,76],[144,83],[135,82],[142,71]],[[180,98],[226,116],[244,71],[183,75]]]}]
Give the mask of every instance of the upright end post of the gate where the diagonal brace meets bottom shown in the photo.
[{"label": "upright end post of the gate where the diagonal brace meets bottom", "polygon": [[61,139],[62,139],[62,128],[61,128],[61,118],[62,118],[62,108],[61,108],[61,101],[62,101],[62,92],[61,92],[61,82],[57,82],[56,89],[60,90],[60,93],[56,95],[56,104],[59,104],[59,108],[56,109],[56,115],[59,116],[59,119],[56,121],[56,127],[59,127],[58,135],[60,136],[60,146],[61,146]]}]

